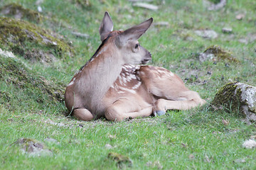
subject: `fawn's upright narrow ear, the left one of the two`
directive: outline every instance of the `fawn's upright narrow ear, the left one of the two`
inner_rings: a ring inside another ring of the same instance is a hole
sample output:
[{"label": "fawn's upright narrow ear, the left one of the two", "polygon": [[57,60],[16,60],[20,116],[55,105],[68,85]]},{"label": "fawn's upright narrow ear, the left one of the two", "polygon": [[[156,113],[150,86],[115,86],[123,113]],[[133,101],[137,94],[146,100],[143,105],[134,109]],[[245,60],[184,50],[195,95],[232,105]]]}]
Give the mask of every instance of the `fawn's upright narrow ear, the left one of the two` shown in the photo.
[{"label": "fawn's upright narrow ear, the left one of the two", "polygon": [[113,30],[113,26],[114,24],[110,17],[110,13],[106,11],[99,29],[101,41],[103,41],[107,37],[107,34]]}]

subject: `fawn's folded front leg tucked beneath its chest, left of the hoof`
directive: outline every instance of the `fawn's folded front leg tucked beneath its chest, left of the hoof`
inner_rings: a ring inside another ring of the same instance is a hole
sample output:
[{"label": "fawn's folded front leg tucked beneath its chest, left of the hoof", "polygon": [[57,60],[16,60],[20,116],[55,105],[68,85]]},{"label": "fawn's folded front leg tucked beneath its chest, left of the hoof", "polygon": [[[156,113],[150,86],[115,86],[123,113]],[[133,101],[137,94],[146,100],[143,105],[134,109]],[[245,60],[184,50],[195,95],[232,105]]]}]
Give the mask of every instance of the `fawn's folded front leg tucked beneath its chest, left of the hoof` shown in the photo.
[{"label": "fawn's folded front leg tucked beneath its chest, left of the hoof", "polygon": [[134,101],[119,99],[115,101],[112,106],[107,108],[105,117],[107,120],[112,121],[121,121],[126,118],[147,117],[152,114],[152,109],[153,107],[151,105],[146,105],[146,107],[142,108]]}]

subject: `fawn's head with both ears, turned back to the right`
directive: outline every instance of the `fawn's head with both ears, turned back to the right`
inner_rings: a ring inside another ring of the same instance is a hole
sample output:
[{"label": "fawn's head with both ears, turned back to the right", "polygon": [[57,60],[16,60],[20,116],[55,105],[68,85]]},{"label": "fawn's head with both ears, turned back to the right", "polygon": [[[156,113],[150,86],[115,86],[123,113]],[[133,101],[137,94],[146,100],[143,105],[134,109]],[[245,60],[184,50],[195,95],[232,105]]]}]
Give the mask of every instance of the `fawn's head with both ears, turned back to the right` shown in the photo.
[{"label": "fawn's head with both ears, turned back to the right", "polygon": [[144,47],[139,45],[138,39],[146,32],[151,26],[153,18],[140,23],[137,26],[133,26],[127,30],[113,31],[113,22],[110,18],[110,14],[105,12],[105,16],[100,24],[100,40],[106,38],[112,39],[112,42],[119,54],[122,54],[124,64],[146,64],[151,60],[151,54]]}]

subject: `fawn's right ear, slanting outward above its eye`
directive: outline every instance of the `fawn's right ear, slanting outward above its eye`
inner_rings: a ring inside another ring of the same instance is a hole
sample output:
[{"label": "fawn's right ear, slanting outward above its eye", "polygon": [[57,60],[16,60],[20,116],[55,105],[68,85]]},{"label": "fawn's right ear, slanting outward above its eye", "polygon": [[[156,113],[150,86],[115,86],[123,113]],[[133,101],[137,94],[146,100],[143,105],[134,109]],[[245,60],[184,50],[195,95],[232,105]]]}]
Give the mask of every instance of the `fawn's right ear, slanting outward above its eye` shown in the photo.
[{"label": "fawn's right ear, slanting outward above its eye", "polygon": [[138,40],[142,34],[144,34],[146,30],[151,26],[152,22],[153,18],[149,18],[137,26],[133,26],[132,28],[124,30],[124,32],[120,33],[115,40],[117,47],[122,47],[129,40]]}]

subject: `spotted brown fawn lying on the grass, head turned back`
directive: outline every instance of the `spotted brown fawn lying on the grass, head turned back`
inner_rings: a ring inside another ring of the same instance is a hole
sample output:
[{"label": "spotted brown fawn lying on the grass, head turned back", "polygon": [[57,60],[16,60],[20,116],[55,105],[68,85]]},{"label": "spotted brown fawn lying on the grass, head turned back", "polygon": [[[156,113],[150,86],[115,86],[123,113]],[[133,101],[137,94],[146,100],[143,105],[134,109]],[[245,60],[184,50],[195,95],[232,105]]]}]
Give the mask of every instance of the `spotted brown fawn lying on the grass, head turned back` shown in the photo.
[{"label": "spotted brown fawn lying on the grass, head turned back", "polygon": [[109,13],[100,24],[98,47],[90,60],[71,79],[65,90],[68,111],[80,120],[107,120],[163,115],[166,110],[186,110],[205,101],[186,88],[167,69],[146,64],[151,54],[138,39],[153,18],[124,31],[113,29]]}]

